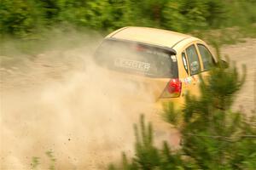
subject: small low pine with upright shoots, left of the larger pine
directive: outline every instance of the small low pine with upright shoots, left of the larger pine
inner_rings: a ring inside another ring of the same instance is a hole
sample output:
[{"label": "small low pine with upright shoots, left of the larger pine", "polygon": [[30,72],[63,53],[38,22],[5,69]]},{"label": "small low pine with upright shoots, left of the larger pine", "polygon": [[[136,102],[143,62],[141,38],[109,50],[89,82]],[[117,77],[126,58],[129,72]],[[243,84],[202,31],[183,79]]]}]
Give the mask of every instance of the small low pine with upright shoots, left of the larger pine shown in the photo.
[{"label": "small low pine with upright shoots, left of the larger pine", "polygon": [[[166,142],[163,143],[163,148],[161,150],[158,150],[154,146],[152,126],[150,123],[148,126],[145,124],[143,116],[141,116],[139,125],[139,129],[137,128],[137,125],[135,125],[136,156],[129,161],[124,153],[122,156],[122,164],[120,166],[111,164],[108,169],[183,169],[183,161],[180,153],[172,152]],[[189,164],[184,167],[189,167]]]}]

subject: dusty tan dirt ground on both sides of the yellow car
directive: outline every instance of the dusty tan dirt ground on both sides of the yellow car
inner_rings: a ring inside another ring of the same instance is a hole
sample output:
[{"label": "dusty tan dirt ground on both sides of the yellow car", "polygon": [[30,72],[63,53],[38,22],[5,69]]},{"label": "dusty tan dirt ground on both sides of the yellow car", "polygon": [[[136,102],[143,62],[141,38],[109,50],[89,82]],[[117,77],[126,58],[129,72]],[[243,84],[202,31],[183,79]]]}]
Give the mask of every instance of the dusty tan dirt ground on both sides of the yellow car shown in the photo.
[{"label": "dusty tan dirt ground on both sides of the yellow car", "polygon": [[[50,162],[44,153],[49,150],[58,169],[101,169],[118,160],[121,151],[132,154],[132,124],[141,113],[154,123],[156,138],[178,144],[177,133],[166,134],[170,126],[152,115],[152,96],[136,92],[126,82],[113,82],[91,63],[88,51],[93,50],[49,51],[8,68],[2,62],[1,169],[28,169],[33,156],[40,157],[40,169],[47,168]],[[256,105],[256,40],[221,51],[240,68],[247,65],[247,80],[234,109],[250,113]],[[145,99],[127,104],[127,92]]]}]

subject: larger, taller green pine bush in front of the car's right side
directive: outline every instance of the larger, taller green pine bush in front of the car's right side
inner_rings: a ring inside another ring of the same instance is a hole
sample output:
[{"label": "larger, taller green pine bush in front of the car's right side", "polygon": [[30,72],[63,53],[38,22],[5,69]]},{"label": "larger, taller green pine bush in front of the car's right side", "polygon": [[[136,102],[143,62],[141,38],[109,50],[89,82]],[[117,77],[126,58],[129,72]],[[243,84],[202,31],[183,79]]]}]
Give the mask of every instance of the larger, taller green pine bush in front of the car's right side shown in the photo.
[{"label": "larger, taller green pine bush in front of the car's right side", "polygon": [[201,96],[186,98],[180,113],[183,114],[180,128],[183,152],[201,169],[253,169],[256,166],[256,129],[253,123],[247,122],[255,118],[230,111],[234,96],[245,81],[245,73],[245,67],[239,76],[235,65],[228,69],[218,65],[212,68],[207,80],[201,78]]}]

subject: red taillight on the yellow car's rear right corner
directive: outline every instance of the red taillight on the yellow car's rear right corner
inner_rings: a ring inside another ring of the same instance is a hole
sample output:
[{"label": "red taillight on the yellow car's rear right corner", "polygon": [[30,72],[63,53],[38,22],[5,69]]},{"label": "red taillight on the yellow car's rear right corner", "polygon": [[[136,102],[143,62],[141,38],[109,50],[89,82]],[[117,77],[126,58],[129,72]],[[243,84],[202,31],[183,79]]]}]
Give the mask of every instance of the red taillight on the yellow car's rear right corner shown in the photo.
[{"label": "red taillight on the yellow car's rear right corner", "polygon": [[182,82],[178,78],[171,79],[168,82],[161,98],[176,98],[181,94]]}]

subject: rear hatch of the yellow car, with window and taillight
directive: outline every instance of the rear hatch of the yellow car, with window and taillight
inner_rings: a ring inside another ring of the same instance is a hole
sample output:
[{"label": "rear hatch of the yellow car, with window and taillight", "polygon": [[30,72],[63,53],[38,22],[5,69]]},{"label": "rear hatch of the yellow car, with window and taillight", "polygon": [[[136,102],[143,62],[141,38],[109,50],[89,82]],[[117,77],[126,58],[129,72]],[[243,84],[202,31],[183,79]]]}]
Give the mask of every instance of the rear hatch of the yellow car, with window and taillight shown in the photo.
[{"label": "rear hatch of the yellow car, with window and taillight", "polygon": [[179,96],[175,54],[172,48],[108,38],[96,50],[95,61],[108,69],[113,81],[122,80],[136,88],[131,95],[140,91],[157,100]]}]

